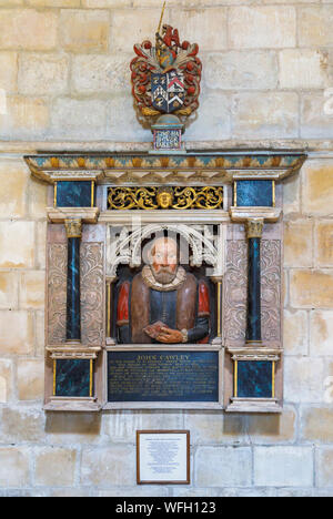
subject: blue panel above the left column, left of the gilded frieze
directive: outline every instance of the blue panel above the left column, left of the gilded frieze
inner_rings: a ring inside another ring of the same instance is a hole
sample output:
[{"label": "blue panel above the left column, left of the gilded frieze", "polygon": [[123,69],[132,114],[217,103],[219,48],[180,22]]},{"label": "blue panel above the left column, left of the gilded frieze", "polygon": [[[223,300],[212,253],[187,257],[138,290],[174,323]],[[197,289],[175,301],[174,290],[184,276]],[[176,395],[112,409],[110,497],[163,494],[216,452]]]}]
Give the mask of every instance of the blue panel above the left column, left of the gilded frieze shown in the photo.
[{"label": "blue panel above the left column, left of the gilded frieze", "polygon": [[58,207],[91,207],[91,182],[58,182]]}]

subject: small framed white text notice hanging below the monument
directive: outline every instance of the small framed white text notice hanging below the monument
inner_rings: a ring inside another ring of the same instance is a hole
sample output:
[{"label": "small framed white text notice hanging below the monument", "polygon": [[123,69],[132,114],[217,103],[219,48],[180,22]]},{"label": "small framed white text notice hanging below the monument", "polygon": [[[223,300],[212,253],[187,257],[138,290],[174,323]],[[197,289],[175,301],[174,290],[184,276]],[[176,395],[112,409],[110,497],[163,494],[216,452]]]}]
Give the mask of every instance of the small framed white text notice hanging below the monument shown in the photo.
[{"label": "small framed white text notice hanging below the monument", "polygon": [[190,431],[138,430],[138,485],[190,485]]}]

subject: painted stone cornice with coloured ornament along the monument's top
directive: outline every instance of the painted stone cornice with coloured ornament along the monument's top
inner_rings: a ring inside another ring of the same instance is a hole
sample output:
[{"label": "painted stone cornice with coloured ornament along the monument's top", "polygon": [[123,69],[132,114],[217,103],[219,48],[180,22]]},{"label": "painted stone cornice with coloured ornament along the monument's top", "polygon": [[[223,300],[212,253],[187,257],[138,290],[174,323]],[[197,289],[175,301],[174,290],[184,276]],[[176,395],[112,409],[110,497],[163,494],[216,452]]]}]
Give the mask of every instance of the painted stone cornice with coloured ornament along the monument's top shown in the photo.
[{"label": "painted stone cornice with coloured ornament along the monument's top", "polygon": [[283,180],[300,170],[300,152],[220,150],[189,151],[183,155],[149,152],[39,154],[24,157],[33,176],[57,181],[94,180],[98,183],[142,185],[152,183],[222,184],[239,179]]}]

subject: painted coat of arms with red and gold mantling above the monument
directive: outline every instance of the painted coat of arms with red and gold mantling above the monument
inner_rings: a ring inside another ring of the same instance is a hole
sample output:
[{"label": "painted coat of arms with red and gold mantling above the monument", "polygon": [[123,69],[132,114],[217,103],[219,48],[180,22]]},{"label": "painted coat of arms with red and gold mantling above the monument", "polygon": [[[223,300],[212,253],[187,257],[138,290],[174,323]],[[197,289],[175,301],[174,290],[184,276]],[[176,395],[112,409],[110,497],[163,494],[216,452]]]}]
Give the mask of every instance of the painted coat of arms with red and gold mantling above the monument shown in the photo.
[{"label": "painted coat of arms with red and gold mantling above the monument", "polygon": [[144,118],[174,114],[182,121],[199,108],[202,64],[199,45],[181,42],[178,29],[163,24],[165,2],[155,44],[135,44],[131,62],[135,104]]}]

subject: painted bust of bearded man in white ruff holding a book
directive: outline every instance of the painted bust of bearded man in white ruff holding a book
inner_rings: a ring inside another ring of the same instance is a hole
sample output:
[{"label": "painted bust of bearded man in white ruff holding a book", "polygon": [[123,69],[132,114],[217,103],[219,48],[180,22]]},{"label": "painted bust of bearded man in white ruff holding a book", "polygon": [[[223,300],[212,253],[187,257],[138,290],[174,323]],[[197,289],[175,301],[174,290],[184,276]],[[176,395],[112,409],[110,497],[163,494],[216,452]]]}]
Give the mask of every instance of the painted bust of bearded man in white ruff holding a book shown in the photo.
[{"label": "painted bust of bearded man in white ruff holding a book", "polygon": [[157,238],[150,264],[132,282],[121,284],[117,308],[120,344],[209,342],[210,296],[203,279],[186,273],[179,247],[170,237]]}]

